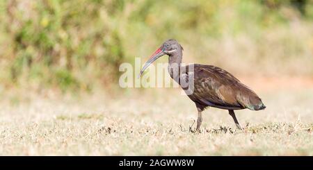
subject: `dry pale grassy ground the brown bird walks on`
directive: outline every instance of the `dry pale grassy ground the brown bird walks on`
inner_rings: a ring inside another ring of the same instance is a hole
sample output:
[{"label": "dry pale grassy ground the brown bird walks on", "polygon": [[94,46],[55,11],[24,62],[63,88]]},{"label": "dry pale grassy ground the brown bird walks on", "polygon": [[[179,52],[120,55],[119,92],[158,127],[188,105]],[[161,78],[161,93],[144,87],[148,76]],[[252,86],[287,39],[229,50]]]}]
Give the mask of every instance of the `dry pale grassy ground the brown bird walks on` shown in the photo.
[{"label": "dry pale grassy ground the brown bird walks on", "polygon": [[246,127],[238,131],[226,110],[209,108],[201,133],[192,133],[195,106],[177,89],[75,99],[1,91],[0,155],[313,155],[313,88],[299,82],[264,90],[245,80],[266,110],[237,111]]}]

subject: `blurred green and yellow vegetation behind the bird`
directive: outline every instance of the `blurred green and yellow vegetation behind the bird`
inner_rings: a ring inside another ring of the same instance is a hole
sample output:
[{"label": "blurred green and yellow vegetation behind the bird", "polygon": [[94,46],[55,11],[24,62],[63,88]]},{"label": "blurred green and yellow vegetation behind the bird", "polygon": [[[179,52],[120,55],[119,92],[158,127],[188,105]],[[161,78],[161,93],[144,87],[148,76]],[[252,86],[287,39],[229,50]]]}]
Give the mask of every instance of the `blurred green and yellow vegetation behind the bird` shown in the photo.
[{"label": "blurred green and yellow vegetation behind the bird", "polygon": [[122,62],[169,38],[183,44],[188,61],[312,75],[312,21],[311,0],[3,0],[0,85],[109,87]]}]

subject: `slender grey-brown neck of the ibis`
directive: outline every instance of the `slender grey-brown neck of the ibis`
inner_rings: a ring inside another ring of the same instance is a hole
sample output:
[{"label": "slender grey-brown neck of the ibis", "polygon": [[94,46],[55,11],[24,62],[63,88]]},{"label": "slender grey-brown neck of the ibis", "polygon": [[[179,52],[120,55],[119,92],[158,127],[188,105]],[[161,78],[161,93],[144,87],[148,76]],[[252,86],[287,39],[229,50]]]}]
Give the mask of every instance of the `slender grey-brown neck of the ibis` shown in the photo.
[{"label": "slender grey-brown neck of the ibis", "polygon": [[182,63],[182,52],[174,53],[168,57],[168,73],[170,77],[176,79],[179,77],[180,64]]}]

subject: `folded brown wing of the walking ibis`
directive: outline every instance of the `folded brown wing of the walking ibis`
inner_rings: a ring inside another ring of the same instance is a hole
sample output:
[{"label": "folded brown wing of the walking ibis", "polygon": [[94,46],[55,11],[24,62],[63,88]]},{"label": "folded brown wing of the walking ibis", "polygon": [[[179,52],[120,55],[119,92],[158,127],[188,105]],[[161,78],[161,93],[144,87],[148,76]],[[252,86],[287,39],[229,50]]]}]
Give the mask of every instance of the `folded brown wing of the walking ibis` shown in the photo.
[{"label": "folded brown wing of the walking ibis", "polygon": [[195,65],[194,71],[193,98],[220,108],[242,108],[234,90],[240,81],[232,74],[211,65]]}]

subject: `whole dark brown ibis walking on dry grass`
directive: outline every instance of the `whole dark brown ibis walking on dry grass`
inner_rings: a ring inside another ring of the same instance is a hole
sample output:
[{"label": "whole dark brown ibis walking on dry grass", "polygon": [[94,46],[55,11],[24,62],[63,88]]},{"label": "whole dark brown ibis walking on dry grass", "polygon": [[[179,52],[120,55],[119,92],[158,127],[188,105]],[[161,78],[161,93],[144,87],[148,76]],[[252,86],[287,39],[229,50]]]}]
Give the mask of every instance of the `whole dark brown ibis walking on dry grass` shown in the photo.
[{"label": "whole dark brown ibis walking on dry grass", "polygon": [[[234,110],[246,108],[263,110],[266,108],[255,92],[224,69],[199,64],[181,66],[182,51],[182,46],[176,40],[167,40],[145,63],[141,74],[157,58],[164,55],[169,56],[168,72],[170,76],[181,85],[198,109],[196,130],[200,131],[202,111],[207,107],[228,110],[239,129],[241,126],[236,119]],[[193,83],[188,84],[190,78],[193,78]],[[193,91],[189,91],[191,89]]]}]

